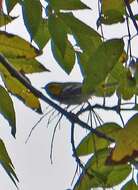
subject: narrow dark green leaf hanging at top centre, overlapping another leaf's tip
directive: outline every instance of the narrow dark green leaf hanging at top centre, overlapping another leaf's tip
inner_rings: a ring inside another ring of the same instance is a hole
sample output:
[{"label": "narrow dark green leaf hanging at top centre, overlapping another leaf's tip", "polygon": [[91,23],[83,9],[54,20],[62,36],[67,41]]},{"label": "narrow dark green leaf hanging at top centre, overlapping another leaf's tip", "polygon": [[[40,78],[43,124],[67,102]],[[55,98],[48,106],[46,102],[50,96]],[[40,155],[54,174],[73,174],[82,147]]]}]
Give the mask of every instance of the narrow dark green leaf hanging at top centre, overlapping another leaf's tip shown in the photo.
[{"label": "narrow dark green leaf hanging at top centre, overlapping another leaf's tip", "polygon": [[50,15],[48,18],[48,27],[53,43],[59,49],[61,56],[64,57],[67,46],[67,32],[65,24],[58,15]]}]

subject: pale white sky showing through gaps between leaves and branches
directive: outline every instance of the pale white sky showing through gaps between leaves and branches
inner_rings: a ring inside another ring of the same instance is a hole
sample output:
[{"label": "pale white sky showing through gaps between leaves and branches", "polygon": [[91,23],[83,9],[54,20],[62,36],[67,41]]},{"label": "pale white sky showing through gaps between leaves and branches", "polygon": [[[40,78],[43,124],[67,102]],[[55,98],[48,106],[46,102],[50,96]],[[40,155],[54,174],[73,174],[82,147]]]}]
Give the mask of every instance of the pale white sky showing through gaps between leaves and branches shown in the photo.
[{"label": "pale white sky showing through gaps between leaves and branches", "polygon": [[[96,1],[85,0],[83,2],[90,5],[93,11],[87,10],[76,12],[76,16],[96,29]],[[14,9],[13,14],[18,15],[19,11],[20,8],[17,6]],[[20,23],[20,19],[15,20],[13,24],[9,24],[7,26],[7,31],[11,31],[12,33],[19,34],[25,39],[29,39],[25,27]],[[122,33],[124,33],[123,25],[119,25],[119,28],[118,26],[112,26],[114,34],[112,32],[108,32],[109,27],[105,27],[104,29],[106,31],[105,35],[108,38],[112,35],[121,36]],[[39,60],[53,71],[52,73],[43,73],[31,76],[34,86],[39,89],[51,80],[58,79],[59,81],[63,81],[63,78],[64,80],[82,80],[81,74],[79,74],[78,69],[76,68],[72,72],[71,76],[66,76],[65,73],[55,65],[49,47],[44,49],[44,56]],[[55,123],[51,123],[47,128],[47,118],[45,118],[32,133],[29,142],[25,144],[25,140],[31,128],[41,116],[25,107],[15,97],[12,97],[12,99],[16,110],[17,138],[16,140],[12,138],[10,127],[2,116],[0,117],[0,134],[1,138],[4,139],[9,155],[11,156],[16,168],[16,173],[20,180],[20,190],[65,190],[70,188],[76,165],[72,158],[69,123],[64,119],[61,122],[60,130],[57,130],[56,132],[53,150],[54,163],[51,165],[49,158],[50,144]],[[47,105],[43,104],[43,109],[45,109],[46,106]],[[106,117],[106,113],[101,114],[103,114],[104,118]],[[128,117],[130,117],[130,115]],[[113,120],[118,120],[118,116],[114,116],[113,118],[112,115],[111,118]],[[77,134],[80,135],[78,137],[79,139],[84,131],[80,130],[78,132],[79,133]],[[0,189],[16,190],[16,187],[1,167],[0,170]]]}]

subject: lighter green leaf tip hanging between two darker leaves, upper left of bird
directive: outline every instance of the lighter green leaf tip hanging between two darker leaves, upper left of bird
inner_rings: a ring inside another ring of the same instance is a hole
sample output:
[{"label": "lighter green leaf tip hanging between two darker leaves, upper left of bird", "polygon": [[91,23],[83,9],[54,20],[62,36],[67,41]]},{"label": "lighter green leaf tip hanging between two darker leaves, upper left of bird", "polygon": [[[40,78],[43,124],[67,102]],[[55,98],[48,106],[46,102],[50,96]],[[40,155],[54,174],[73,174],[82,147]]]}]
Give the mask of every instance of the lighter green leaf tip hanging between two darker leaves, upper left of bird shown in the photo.
[{"label": "lighter green leaf tip hanging between two darker leaves, upper left of bird", "polygon": [[34,41],[40,49],[43,49],[46,43],[50,39],[50,34],[48,30],[48,20],[41,19],[38,30],[34,36]]}]

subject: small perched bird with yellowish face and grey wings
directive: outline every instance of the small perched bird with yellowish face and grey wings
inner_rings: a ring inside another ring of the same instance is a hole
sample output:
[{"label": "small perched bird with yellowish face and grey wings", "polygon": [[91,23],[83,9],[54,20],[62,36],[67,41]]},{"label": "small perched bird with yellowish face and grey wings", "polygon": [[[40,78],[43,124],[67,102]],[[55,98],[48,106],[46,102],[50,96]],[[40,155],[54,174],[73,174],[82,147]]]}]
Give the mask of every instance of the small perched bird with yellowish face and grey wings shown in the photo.
[{"label": "small perched bird with yellowish face and grey wings", "polygon": [[66,105],[75,105],[87,102],[91,95],[82,94],[82,83],[79,82],[51,82],[44,89],[47,94]]}]

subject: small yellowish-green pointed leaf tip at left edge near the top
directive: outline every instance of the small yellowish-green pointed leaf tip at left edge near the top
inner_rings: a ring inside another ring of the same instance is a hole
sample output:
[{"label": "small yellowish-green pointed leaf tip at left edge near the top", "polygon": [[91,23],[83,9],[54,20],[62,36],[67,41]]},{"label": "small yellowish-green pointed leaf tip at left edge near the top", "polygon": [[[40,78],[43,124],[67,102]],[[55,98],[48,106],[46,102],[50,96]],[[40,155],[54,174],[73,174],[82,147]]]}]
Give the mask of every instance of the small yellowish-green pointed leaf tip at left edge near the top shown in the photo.
[{"label": "small yellowish-green pointed leaf tip at left edge near the top", "polygon": [[12,16],[6,15],[4,13],[0,14],[0,27],[5,26],[6,24],[12,22],[16,18],[17,17],[12,17]]}]

